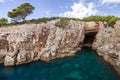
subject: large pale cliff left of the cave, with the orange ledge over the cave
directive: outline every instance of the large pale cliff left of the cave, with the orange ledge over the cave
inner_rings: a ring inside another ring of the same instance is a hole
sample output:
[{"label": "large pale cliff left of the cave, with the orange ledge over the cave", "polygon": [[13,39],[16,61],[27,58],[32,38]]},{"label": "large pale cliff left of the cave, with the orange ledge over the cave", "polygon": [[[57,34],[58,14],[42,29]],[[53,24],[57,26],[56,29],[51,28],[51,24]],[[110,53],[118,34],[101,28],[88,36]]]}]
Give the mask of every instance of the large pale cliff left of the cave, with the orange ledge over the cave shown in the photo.
[{"label": "large pale cliff left of the cave, with the orange ledge over the cave", "polygon": [[81,49],[86,31],[103,27],[102,22],[70,20],[60,28],[55,26],[58,21],[0,28],[0,63],[13,66],[73,56]]}]

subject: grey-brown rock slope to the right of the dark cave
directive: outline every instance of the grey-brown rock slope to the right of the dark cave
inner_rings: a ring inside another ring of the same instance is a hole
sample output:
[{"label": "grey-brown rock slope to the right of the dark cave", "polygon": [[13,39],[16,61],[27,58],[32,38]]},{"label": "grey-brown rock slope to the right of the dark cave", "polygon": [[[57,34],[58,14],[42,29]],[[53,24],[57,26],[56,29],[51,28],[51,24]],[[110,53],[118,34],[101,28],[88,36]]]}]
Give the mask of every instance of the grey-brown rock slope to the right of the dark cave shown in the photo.
[{"label": "grey-brown rock slope to the right of the dark cave", "polygon": [[114,28],[101,29],[92,47],[120,72],[120,21]]}]

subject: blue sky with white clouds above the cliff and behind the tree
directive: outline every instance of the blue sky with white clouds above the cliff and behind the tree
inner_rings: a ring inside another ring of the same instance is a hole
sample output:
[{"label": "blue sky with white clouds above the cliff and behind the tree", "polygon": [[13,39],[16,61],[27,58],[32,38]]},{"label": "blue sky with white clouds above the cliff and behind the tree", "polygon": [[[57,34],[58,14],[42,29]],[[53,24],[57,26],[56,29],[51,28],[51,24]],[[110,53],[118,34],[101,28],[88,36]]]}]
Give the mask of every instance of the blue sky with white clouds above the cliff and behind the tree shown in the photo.
[{"label": "blue sky with white clouds above the cliff and behind the tree", "polygon": [[30,3],[35,7],[27,19],[53,16],[80,19],[93,15],[120,16],[120,0],[0,0],[0,18],[8,18],[8,11],[23,3]]}]

